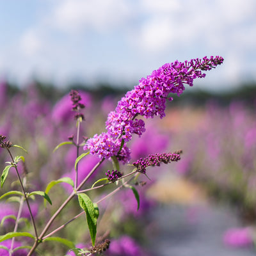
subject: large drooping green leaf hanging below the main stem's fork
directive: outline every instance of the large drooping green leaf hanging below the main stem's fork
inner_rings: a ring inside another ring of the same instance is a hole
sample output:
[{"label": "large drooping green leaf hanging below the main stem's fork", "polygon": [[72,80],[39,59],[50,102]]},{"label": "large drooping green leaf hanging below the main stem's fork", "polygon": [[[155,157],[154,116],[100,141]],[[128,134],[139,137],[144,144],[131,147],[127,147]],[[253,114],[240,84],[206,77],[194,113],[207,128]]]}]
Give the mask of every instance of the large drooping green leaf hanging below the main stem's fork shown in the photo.
[{"label": "large drooping green leaf hanging below the main stem's fork", "polygon": [[97,233],[97,218],[99,216],[99,209],[98,211],[97,209],[95,209],[93,202],[86,194],[79,194],[78,200],[81,208],[84,210],[86,214],[86,220],[90,231],[90,236],[92,239],[92,245],[95,246],[95,239]]}]

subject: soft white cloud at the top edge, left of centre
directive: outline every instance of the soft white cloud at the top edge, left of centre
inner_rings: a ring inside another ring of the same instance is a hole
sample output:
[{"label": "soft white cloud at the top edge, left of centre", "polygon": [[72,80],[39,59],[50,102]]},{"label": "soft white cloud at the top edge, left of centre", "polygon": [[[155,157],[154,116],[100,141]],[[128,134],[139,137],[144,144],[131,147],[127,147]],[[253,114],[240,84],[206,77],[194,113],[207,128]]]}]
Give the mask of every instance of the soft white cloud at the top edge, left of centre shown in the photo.
[{"label": "soft white cloud at the top edge, left of centre", "polygon": [[56,6],[52,20],[64,31],[104,32],[122,26],[131,13],[129,1],[125,0],[65,0]]}]

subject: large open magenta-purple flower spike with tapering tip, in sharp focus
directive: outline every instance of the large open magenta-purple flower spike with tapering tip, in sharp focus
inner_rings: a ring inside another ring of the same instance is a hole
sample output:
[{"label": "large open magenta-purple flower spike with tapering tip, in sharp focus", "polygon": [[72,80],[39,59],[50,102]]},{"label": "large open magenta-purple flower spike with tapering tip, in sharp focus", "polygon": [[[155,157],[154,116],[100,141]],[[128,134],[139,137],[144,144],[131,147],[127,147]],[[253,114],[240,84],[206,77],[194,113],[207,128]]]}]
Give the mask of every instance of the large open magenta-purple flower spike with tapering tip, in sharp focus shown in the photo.
[{"label": "large open magenta-purple flower spike with tapering tip, in sharp focus", "polygon": [[166,63],[154,70],[118,102],[115,111],[108,115],[107,132],[95,134],[84,145],[84,150],[89,149],[91,154],[100,158],[116,156],[123,163],[129,162],[131,151],[127,142],[132,134],[141,136],[145,132],[145,122],[137,117],[163,118],[166,100],[173,100],[170,93],[180,95],[185,90],[184,84],[193,86],[194,79],[205,77],[202,70],[211,70],[221,63],[222,57],[211,56],[202,60]]}]

